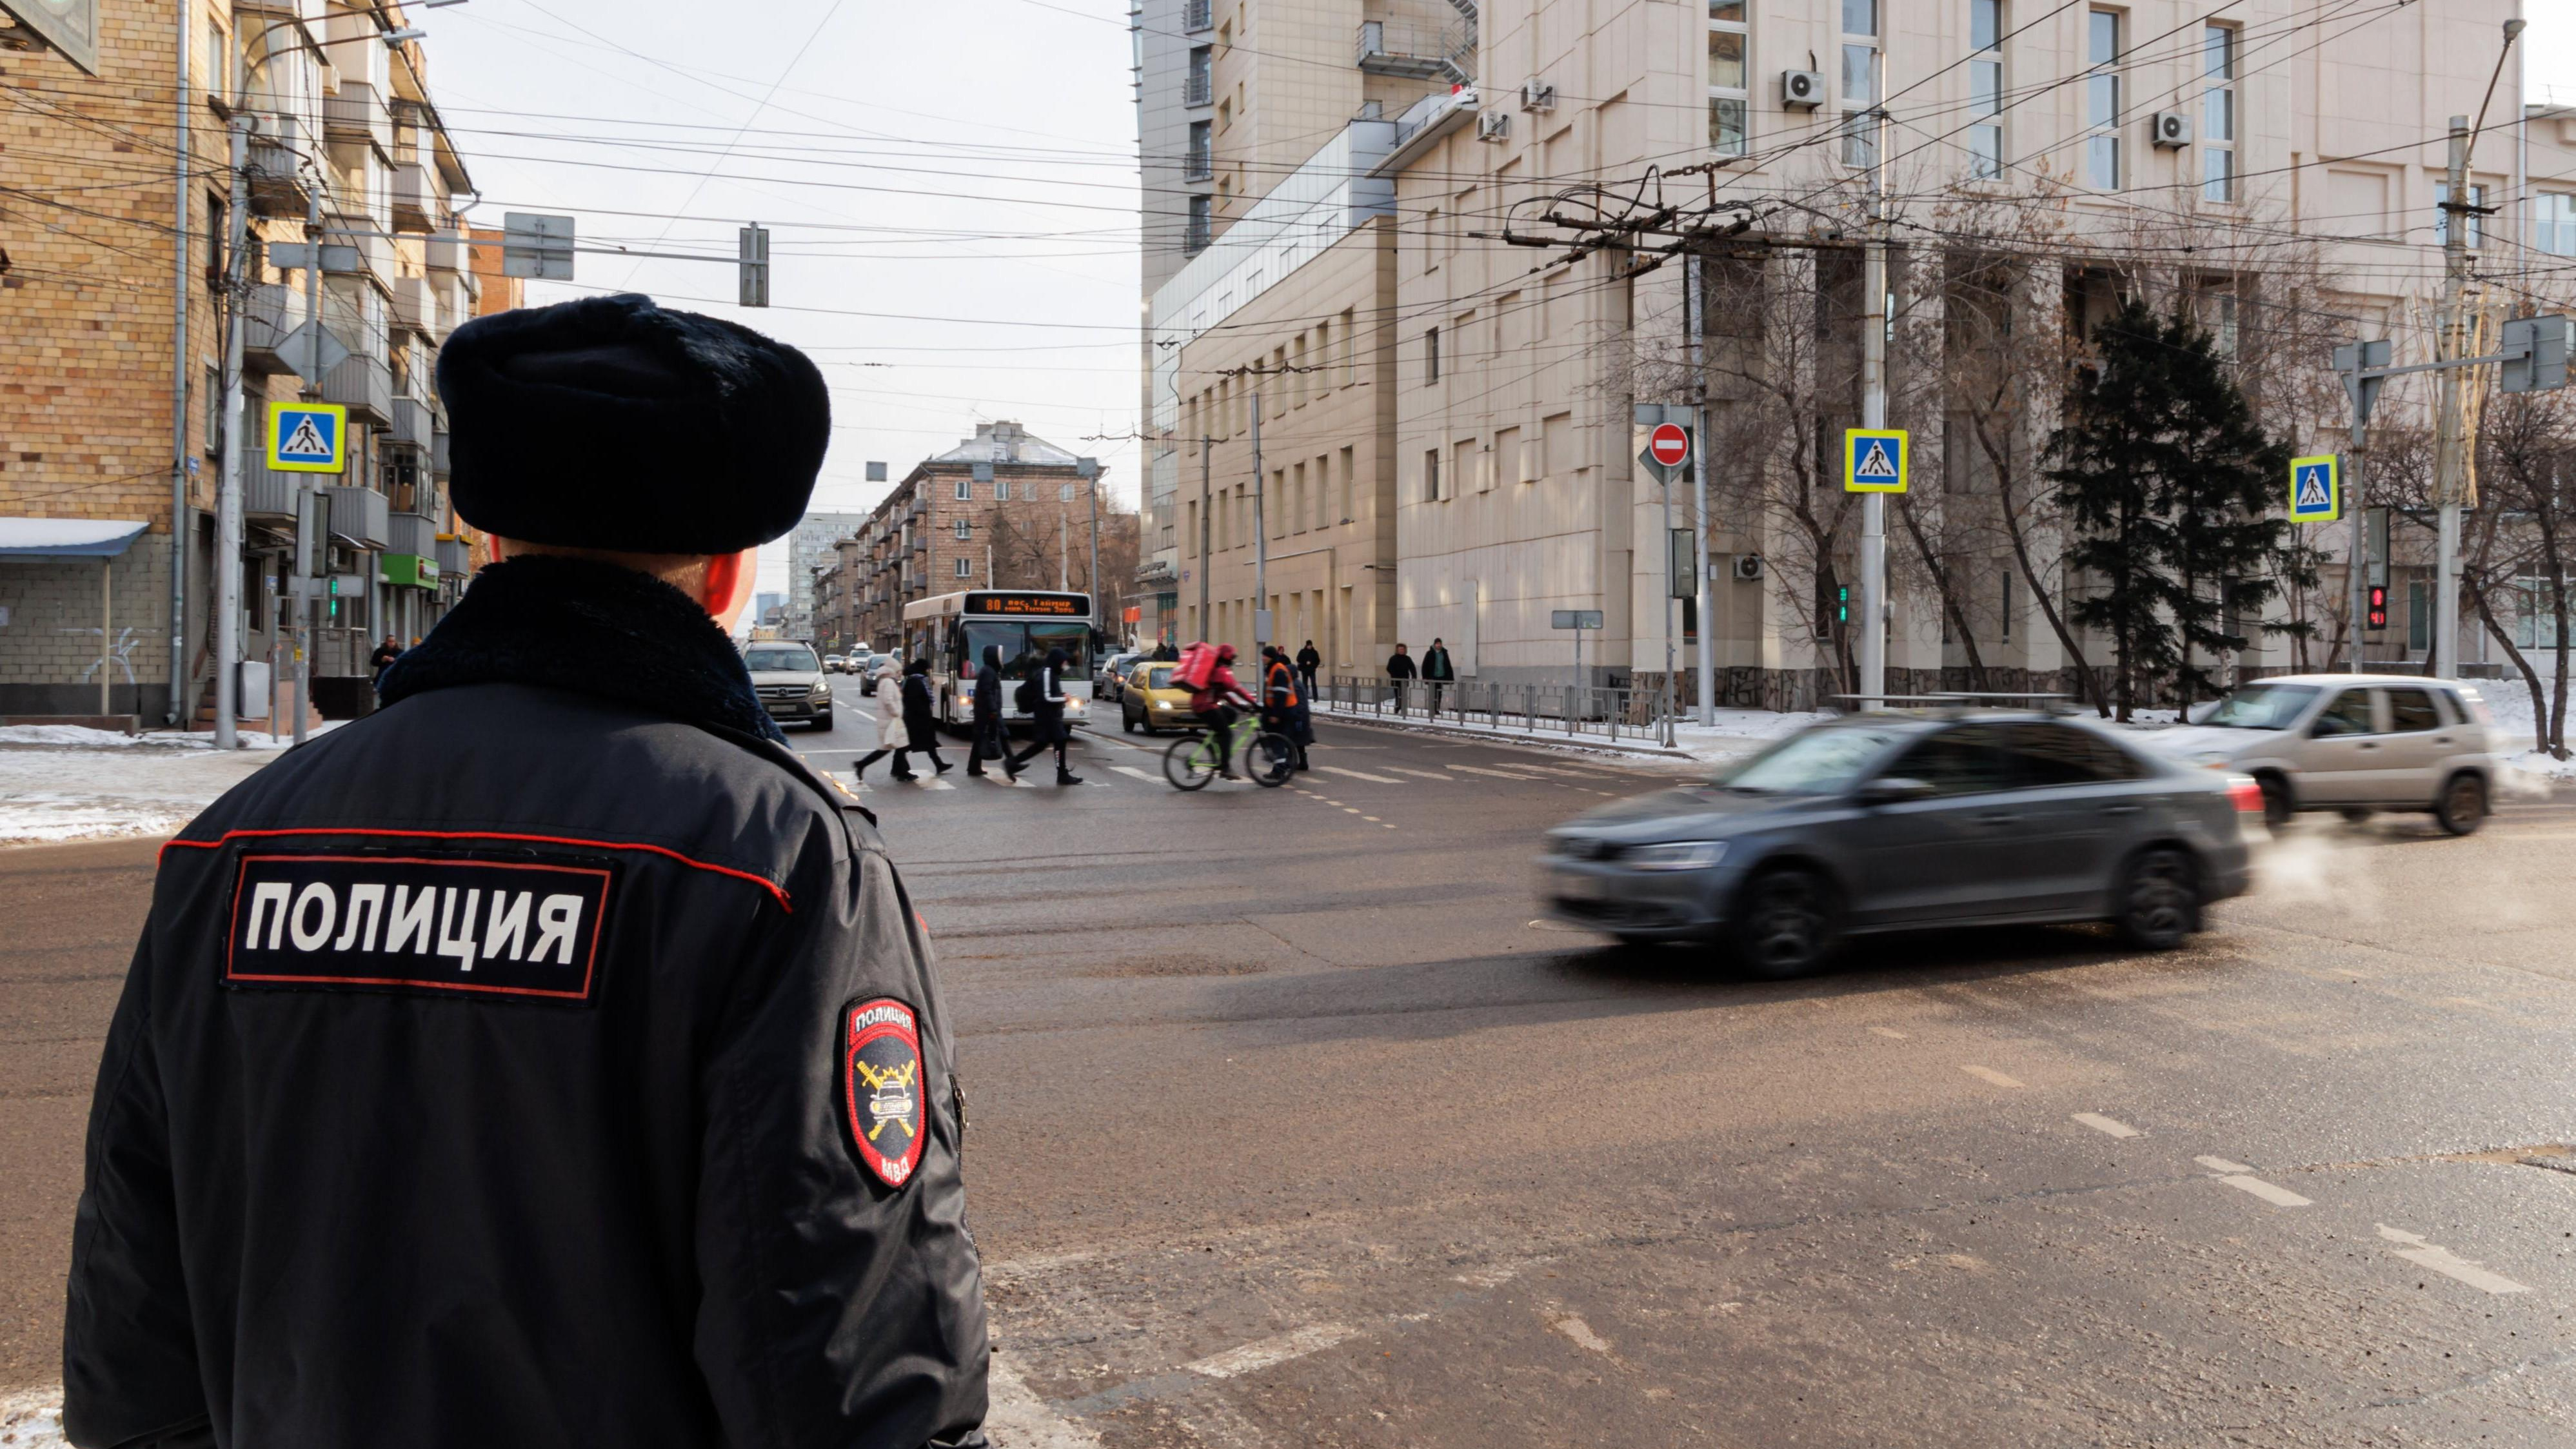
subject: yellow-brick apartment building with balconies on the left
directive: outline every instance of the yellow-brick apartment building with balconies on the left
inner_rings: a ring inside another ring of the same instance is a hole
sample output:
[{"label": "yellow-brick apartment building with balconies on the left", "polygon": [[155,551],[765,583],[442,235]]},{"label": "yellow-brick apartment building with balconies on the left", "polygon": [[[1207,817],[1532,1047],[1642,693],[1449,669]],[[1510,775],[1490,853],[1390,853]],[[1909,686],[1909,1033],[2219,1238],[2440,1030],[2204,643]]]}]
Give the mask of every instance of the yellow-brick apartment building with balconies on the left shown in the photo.
[{"label": "yellow-brick apartment building with balconies on the left", "polygon": [[[82,8],[67,15],[80,26]],[[0,206],[0,715],[100,713],[103,669],[106,713],[152,726],[211,695],[227,422],[247,443],[245,659],[283,664],[281,582],[314,479],[332,499],[325,708],[363,708],[374,638],[428,631],[461,589],[477,558],[446,507],[430,376],[451,327],[518,296],[469,260],[451,198],[471,178],[420,41],[384,39],[402,26],[394,0],[98,0],[93,44],[0,31],[15,188]],[[314,203],[325,275],[270,265],[270,247],[307,239]],[[301,378],[286,340],[312,293],[348,358]],[[234,322],[245,409],[227,420]],[[265,404],[296,399],[348,407],[345,474],[260,463]],[[49,548],[80,528],[129,543]]]}]

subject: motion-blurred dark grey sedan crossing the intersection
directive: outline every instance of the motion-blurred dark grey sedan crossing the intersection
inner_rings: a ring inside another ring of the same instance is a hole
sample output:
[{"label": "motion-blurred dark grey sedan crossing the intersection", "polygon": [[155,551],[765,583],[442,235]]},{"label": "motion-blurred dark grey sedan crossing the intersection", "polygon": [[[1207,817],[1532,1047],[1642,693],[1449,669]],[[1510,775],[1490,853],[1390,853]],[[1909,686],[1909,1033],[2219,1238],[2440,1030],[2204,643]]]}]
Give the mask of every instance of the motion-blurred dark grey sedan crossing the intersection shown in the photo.
[{"label": "motion-blurred dark grey sedan crossing the intersection", "polygon": [[1860,932],[2115,921],[2166,950],[2246,888],[2262,793],[2040,713],[1865,713],[1548,831],[1540,909],[1801,975]]}]

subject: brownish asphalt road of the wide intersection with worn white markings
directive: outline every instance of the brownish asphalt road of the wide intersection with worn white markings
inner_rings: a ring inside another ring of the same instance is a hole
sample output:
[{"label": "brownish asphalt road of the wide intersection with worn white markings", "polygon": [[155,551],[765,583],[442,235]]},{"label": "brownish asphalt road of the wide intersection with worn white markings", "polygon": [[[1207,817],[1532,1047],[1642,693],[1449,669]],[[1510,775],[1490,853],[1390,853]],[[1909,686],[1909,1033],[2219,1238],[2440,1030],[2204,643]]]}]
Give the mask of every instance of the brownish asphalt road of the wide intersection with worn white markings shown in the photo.
[{"label": "brownish asphalt road of the wide intersection with worn white markings", "polygon": [[[1115,726],[1079,788],[871,772],[1005,1446],[2576,1444],[2576,808],[2303,821],[2182,952],[1772,986],[1533,924],[1535,834],[1651,767],[1324,736],[1291,790]],[[0,852],[0,1390],[147,870]]]}]

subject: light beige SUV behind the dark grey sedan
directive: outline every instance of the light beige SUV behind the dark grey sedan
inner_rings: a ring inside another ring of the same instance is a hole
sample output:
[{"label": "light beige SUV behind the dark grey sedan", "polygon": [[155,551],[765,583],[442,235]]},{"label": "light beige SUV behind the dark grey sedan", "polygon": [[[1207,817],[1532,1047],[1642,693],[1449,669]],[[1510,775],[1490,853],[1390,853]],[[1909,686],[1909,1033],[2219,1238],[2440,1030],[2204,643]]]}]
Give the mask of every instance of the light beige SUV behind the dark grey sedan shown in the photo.
[{"label": "light beige SUV behind the dark grey sedan", "polygon": [[2429,811],[2445,831],[2468,834],[2496,798],[2494,715],[2463,679],[2280,674],[2146,739],[2251,775],[2275,826],[2298,811]]}]

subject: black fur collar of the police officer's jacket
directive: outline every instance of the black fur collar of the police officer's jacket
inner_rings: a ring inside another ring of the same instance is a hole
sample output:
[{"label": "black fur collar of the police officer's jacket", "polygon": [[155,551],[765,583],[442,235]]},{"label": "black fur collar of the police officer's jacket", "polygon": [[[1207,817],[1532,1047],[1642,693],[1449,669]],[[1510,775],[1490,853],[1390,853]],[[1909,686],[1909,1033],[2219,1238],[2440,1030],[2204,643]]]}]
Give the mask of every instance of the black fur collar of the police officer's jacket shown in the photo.
[{"label": "black fur collar of the police officer's jacket", "polygon": [[448,618],[384,669],[386,705],[453,685],[538,685],[786,744],[742,651],[680,589],[528,553],[474,574]]}]

